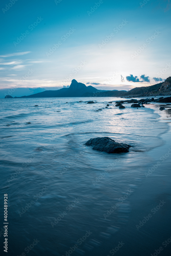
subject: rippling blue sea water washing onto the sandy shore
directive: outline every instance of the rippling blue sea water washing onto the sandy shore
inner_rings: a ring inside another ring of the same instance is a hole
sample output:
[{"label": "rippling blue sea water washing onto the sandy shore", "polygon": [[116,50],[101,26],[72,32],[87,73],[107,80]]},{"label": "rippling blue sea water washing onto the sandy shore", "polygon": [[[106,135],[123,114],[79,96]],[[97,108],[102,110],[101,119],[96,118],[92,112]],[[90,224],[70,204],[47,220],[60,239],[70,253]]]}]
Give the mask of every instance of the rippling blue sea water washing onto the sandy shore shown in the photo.
[{"label": "rippling blue sea water washing onto the sandy shore", "polygon": [[[90,100],[97,103],[87,104]],[[170,122],[169,106],[163,112],[158,103],[119,109],[117,100],[0,99],[8,255],[107,256],[99,252],[111,250],[127,223],[129,198],[152,163],[148,152],[164,144],[161,135]],[[106,154],[84,145],[103,136],[131,145],[129,153]],[[2,244],[3,232],[0,239]],[[36,245],[27,249],[34,239]],[[122,252],[117,255],[126,255]]]}]

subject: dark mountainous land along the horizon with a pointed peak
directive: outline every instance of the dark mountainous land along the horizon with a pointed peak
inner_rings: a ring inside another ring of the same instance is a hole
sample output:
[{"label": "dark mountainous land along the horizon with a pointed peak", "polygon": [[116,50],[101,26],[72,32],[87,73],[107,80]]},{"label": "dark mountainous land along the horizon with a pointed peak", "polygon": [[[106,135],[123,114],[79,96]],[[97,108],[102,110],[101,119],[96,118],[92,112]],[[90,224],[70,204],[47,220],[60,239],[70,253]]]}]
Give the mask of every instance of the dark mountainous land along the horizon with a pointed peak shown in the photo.
[{"label": "dark mountainous land along the horizon with a pointed peak", "polygon": [[[107,91],[98,90],[93,86],[86,86],[83,83],[78,83],[75,79],[72,80],[69,88],[59,90],[47,90],[44,92],[35,93],[28,96],[14,98],[52,98],[52,97],[146,97],[156,95],[171,95],[171,77],[168,77],[164,82],[146,87],[136,87],[130,91]],[[5,98],[13,98],[6,95]]]}]

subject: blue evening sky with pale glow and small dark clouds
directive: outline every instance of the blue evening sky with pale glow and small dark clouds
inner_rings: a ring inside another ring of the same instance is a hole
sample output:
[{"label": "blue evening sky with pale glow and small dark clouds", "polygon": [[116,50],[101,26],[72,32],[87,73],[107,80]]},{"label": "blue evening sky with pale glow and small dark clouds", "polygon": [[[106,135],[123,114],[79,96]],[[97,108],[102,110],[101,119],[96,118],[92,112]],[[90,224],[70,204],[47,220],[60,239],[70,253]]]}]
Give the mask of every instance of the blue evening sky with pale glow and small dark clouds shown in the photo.
[{"label": "blue evening sky with pale glow and small dark clouds", "polygon": [[170,0],[0,5],[1,98],[57,90],[72,79],[130,90],[171,76]]}]

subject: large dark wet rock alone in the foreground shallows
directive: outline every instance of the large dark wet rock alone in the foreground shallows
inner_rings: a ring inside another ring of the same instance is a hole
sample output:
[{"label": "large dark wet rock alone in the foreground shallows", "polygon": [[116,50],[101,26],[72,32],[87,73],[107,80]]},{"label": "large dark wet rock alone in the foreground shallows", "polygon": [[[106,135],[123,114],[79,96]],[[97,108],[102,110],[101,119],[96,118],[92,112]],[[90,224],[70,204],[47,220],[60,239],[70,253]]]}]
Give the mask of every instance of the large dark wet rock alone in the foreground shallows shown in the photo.
[{"label": "large dark wet rock alone in the foreground shallows", "polygon": [[109,137],[91,138],[84,145],[93,146],[93,150],[111,153],[125,153],[129,152],[130,145],[125,143],[118,143]]}]

